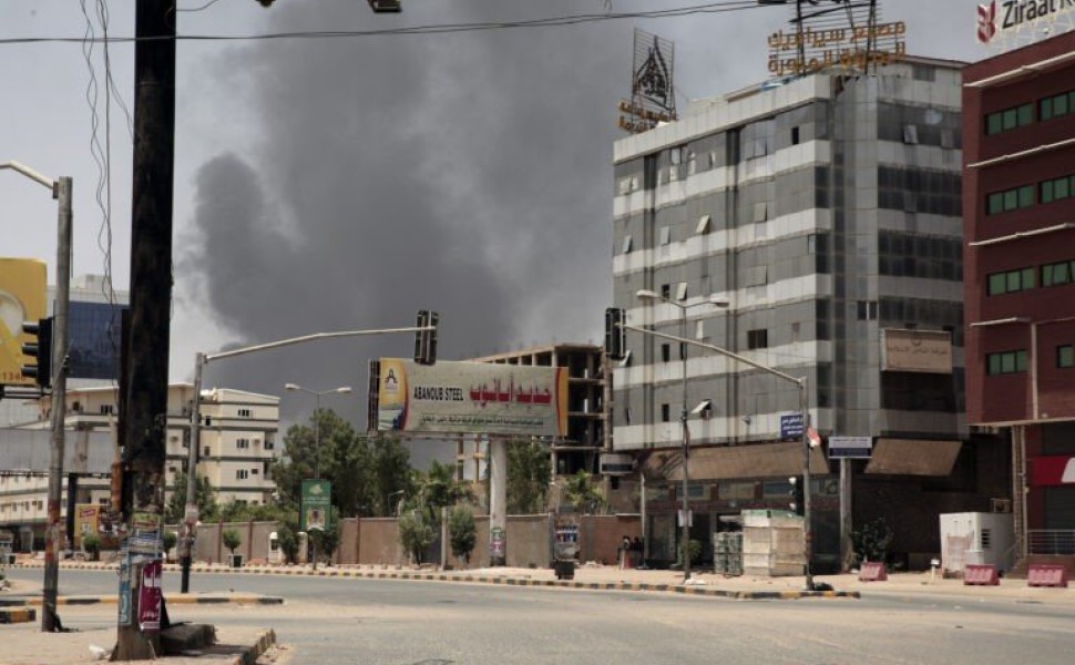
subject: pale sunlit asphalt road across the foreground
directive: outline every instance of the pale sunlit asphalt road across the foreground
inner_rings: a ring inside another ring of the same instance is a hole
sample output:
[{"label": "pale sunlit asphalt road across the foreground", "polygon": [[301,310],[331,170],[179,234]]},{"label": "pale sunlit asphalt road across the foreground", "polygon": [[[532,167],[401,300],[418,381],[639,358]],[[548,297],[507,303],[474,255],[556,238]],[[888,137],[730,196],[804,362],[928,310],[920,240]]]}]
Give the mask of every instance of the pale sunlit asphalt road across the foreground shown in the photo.
[{"label": "pale sunlit asphalt road across the foreground", "polygon": [[[11,571],[40,581],[40,571]],[[177,591],[178,575],[165,577]],[[115,573],[61,571],[62,594],[115,593]],[[741,602],[658,593],[431,582],[195,575],[195,592],[281,595],[283,607],[177,606],[173,621],[260,625],[288,663],[1069,664],[1072,604],[869,593],[862,600]],[[69,608],[104,628],[114,607]]]}]

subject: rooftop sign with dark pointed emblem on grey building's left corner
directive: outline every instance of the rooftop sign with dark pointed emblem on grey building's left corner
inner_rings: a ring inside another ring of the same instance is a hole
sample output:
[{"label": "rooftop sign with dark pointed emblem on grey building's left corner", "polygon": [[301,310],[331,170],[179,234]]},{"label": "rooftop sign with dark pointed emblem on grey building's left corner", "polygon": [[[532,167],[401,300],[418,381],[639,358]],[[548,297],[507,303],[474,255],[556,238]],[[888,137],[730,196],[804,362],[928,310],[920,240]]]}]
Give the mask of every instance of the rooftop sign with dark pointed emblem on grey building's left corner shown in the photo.
[{"label": "rooftop sign with dark pointed emblem on grey building's left corner", "polygon": [[631,100],[620,100],[620,129],[637,134],[676,119],[675,43],[635,29]]}]

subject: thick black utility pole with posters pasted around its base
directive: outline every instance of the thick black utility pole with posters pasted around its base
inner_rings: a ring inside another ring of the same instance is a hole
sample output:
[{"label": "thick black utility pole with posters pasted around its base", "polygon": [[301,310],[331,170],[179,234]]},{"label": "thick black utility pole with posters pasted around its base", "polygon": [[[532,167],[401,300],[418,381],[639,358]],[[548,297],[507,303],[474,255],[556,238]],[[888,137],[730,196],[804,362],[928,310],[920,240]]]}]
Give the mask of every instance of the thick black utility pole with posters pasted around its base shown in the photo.
[{"label": "thick black utility pole with posters pasted around its base", "polygon": [[[143,569],[160,553],[164,514],[172,187],[175,144],[175,3],[135,4],[131,332],[123,392],[126,557],[121,563],[115,659],[161,656],[161,612],[143,607]],[[125,564],[125,565],[124,565]],[[150,569],[152,570],[152,569]],[[158,596],[157,596],[158,597]],[[160,602],[160,601],[157,601]],[[153,603],[150,603],[153,604]],[[125,612],[124,612],[125,608]]]}]

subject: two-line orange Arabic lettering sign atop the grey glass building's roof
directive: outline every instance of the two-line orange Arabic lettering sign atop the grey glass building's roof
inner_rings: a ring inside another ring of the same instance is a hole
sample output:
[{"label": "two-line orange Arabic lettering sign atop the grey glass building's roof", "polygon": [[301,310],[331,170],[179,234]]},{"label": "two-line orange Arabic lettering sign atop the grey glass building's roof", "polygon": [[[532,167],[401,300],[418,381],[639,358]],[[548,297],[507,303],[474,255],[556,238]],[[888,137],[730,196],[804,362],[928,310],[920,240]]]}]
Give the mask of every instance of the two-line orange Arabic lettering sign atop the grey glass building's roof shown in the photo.
[{"label": "two-line orange Arabic lettering sign atop the grey glass building's roof", "polygon": [[[907,58],[907,23],[882,23],[870,2],[831,0],[832,7],[796,8],[792,28],[769,35],[769,73],[799,76],[829,68],[866,72]],[[817,4],[817,2],[811,2]]]}]

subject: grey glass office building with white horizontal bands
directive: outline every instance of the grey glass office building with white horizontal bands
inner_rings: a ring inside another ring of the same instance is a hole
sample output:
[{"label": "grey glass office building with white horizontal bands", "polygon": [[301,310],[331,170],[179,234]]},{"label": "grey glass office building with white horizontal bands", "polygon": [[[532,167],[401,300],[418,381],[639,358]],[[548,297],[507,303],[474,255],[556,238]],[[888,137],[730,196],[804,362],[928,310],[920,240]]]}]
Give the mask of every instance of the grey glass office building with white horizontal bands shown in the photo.
[{"label": "grey glass office building with white horizontal bands", "polygon": [[[883,518],[912,564],[940,550],[940,512],[987,510],[1007,488],[994,479],[1005,448],[969,441],[962,416],[961,70],[911,58],[770,81],[692,103],[614,154],[614,300],[628,324],[806,377],[811,424],[872,443],[849,463],[847,514]],[[709,543],[745,508],[786,509],[803,467],[801,443],[781,439],[796,383],[677,347],[629,332],[613,402],[615,449],[644,462],[651,555],[666,560],[682,408],[692,539]],[[827,452],[811,453],[809,491],[816,562],[835,565]]]}]

